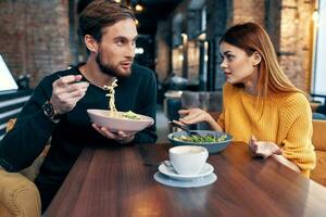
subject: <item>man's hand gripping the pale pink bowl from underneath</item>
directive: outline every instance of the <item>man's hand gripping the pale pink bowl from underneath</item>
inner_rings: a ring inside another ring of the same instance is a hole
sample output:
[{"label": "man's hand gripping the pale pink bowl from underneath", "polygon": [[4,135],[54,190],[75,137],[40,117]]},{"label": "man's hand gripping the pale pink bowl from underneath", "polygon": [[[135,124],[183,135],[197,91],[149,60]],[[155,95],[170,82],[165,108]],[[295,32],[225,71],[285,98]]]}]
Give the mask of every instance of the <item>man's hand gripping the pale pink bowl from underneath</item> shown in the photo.
[{"label": "man's hand gripping the pale pink bowl from underneath", "polygon": [[103,137],[106,137],[108,139],[112,139],[117,141],[118,143],[125,144],[129,143],[135,139],[135,132],[126,132],[126,131],[117,131],[112,132],[110,129],[105,127],[100,127],[96,124],[91,125],[98,132],[100,132]]}]

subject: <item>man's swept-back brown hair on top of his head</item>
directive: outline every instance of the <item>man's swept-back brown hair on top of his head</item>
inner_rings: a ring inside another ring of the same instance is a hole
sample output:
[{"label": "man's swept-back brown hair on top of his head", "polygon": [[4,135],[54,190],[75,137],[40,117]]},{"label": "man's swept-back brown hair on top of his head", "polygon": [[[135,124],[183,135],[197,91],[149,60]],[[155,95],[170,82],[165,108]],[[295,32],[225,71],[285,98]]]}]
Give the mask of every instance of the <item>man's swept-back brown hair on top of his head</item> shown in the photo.
[{"label": "man's swept-back brown hair on top of his head", "polygon": [[127,18],[136,20],[134,12],[126,5],[115,1],[95,0],[79,14],[79,35],[83,39],[90,35],[101,41],[104,27]]}]

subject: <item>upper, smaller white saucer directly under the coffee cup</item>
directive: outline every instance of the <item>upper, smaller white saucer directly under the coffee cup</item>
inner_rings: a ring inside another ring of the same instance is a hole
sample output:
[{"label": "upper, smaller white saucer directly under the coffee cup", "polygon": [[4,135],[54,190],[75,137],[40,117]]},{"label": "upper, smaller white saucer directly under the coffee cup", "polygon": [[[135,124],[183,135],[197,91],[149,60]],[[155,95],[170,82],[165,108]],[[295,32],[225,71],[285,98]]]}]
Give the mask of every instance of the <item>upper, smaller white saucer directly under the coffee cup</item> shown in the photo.
[{"label": "upper, smaller white saucer directly under the coffee cup", "polygon": [[209,176],[214,171],[214,167],[209,163],[205,163],[205,165],[203,166],[203,168],[198,175],[187,176],[187,175],[179,175],[173,168],[165,166],[165,164],[161,164],[159,166],[159,171],[165,176],[168,176],[172,179],[181,180],[181,181],[191,181],[192,179],[198,179],[201,177]]}]

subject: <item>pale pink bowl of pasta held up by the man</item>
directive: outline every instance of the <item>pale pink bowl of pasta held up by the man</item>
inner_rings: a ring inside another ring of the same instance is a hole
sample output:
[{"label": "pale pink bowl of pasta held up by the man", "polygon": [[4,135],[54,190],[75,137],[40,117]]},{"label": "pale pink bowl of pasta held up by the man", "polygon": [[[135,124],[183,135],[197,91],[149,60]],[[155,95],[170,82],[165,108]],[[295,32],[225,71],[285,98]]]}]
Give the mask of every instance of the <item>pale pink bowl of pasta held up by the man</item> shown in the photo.
[{"label": "pale pink bowl of pasta held up by the man", "polygon": [[91,123],[110,131],[138,132],[154,124],[153,118],[130,111],[112,113],[109,110],[87,110],[87,113]]}]

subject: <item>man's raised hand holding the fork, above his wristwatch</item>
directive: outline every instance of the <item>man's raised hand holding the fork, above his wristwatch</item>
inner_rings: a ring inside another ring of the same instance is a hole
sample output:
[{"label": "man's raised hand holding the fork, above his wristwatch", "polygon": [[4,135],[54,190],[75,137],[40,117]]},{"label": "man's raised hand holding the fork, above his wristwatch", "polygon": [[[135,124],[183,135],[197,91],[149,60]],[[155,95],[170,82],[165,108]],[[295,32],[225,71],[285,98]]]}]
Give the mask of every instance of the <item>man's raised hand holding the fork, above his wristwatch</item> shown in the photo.
[{"label": "man's raised hand holding the fork, above his wristwatch", "polygon": [[50,102],[57,114],[72,111],[76,103],[84,98],[89,84],[79,81],[82,77],[82,75],[67,75],[60,77],[52,84],[53,90]]}]

